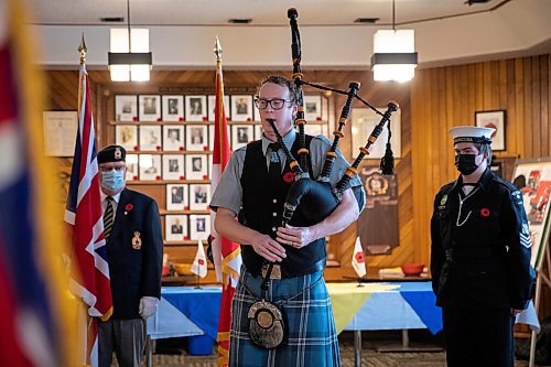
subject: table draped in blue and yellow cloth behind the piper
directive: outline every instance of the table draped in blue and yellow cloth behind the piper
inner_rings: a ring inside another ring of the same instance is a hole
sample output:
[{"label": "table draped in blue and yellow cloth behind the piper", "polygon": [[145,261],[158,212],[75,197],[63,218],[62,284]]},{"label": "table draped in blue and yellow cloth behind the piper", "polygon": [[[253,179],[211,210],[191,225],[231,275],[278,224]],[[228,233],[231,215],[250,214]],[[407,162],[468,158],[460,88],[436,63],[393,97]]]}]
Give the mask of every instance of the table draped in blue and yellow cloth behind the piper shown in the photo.
[{"label": "table draped in blue and yellow cloth behind the piper", "polygon": [[[442,330],[442,311],[435,306],[430,281],[380,283],[327,283],[337,333],[353,331],[356,366],[360,364],[361,331]],[[208,335],[216,341],[222,288],[163,287],[158,312],[148,319],[151,339]],[[517,322],[539,327],[533,306]],[[406,332],[403,332],[406,331]],[[148,366],[151,366],[150,348]]]}]

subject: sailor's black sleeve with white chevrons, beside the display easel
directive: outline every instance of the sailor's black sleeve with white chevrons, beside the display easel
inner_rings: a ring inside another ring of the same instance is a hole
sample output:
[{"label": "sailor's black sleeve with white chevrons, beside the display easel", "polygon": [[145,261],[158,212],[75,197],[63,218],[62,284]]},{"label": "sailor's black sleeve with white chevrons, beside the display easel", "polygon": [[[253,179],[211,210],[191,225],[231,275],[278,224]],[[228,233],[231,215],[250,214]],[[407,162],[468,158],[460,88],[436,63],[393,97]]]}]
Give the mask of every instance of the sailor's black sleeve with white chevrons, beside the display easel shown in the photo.
[{"label": "sailor's black sleeve with white chevrons, beside the display easel", "polygon": [[507,192],[501,206],[501,230],[509,247],[511,307],[525,310],[533,296],[534,271],[530,266],[531,240],[528,219],[519,191]]}]

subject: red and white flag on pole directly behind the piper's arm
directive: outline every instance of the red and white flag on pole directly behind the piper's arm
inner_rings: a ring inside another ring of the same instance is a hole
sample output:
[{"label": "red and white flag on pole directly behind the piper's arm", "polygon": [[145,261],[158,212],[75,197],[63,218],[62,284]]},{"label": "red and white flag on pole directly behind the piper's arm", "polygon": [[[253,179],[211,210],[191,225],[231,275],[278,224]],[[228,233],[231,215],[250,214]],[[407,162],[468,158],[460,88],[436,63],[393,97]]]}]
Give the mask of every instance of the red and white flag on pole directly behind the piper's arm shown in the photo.
[{"label": "red and white flag on pole directly behind the piper's arm", "polygon": [[[222,75],[222,48],[216,39],[216,106],[215,106],[215,132],[213,151],[213,181],[212,190],[216,190],[222,173],[226,168],[229,155],[228,122],[224,110],[224,82]],[[241,250],[238,244],[219,236],[214,227],[216,213],[210,211],[210,230],[213,234],[213,257],[216,277],[223,283],[220,317],[218,321],[218,366],[227,366],[229,357],[229,330],[231,326],[231,300],[235,287],[239,279],[241,267]]]}]

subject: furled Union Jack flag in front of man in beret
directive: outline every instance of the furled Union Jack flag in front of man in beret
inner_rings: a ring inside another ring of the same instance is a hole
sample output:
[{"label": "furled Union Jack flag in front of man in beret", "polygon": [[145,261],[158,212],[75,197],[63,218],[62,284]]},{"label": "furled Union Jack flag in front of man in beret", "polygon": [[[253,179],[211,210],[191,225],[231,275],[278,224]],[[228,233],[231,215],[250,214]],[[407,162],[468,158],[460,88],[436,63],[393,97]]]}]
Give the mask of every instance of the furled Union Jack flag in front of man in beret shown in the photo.
[{"label": "furled Union Jack flag in front of man in beret", "polygon": [[[112,314],[111,285],[104,235],[91,95],[84,65],[80,66],[78,96],[78,130],[65,209],[65,222],[73,229],[71,290],[88,305],[90,316],[105,321]],[[95,319],[88,331],[94,341],[91,350],[88,350],[93,366],[97,363],[97,333],[94,323]]]}]

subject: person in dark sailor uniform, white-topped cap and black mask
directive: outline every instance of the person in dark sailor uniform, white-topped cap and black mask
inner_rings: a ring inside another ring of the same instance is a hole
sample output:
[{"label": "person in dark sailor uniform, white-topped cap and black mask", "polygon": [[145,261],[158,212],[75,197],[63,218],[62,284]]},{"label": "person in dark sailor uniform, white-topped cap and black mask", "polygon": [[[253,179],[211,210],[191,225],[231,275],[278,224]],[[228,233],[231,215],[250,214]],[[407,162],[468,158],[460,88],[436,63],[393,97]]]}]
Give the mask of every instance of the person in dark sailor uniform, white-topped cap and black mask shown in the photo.
[{"label": "person in dark sailor uniform, white-topped cap and black mask", "polygon": [[533,295],[522,195],[489,170],[493,131],[450,130],[461,175],[434,199],[432,287],[449,367],[512,367],[515,316]]}]

